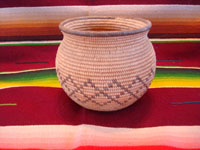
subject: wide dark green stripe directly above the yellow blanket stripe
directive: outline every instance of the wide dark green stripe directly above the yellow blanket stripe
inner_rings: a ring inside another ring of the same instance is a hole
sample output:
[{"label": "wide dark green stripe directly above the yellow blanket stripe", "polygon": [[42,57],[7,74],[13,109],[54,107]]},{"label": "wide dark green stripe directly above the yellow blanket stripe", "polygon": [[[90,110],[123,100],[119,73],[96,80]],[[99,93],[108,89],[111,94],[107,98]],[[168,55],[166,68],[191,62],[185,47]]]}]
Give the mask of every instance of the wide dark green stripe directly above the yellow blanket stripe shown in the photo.
[{"label": "wide dark green stripe directly above the yellow blanket stripe", "polygon": [[[184,78],[189,80],[200,79],[199,69],[182,69],[182,68],[157,68],[155,78]],[[39,70],[22,73],[0,74],[2,82],[29,82],[51,80],[57,81],[55,69]]]}]

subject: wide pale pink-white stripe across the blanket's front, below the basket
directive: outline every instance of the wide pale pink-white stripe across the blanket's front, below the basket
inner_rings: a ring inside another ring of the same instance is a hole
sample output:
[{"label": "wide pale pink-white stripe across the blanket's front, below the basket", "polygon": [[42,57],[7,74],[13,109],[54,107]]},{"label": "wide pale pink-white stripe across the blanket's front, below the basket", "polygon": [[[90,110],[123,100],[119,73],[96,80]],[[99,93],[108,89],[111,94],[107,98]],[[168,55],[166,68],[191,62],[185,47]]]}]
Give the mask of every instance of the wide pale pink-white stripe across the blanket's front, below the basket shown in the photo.
[{"label": "wide pale pink-white stripe across the blanket's front, below the basket", "polygon": [[110,128],[95,125],[0,127],[0,148],[73,149],[79,146],[200,148],[200,126]]}]

